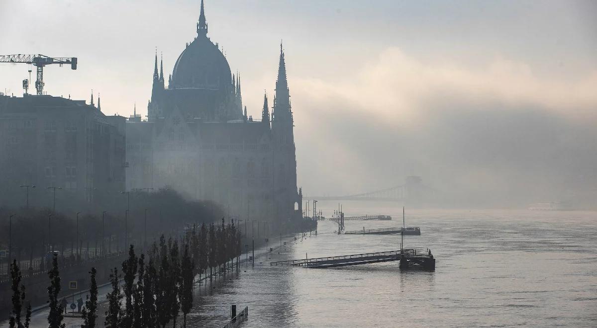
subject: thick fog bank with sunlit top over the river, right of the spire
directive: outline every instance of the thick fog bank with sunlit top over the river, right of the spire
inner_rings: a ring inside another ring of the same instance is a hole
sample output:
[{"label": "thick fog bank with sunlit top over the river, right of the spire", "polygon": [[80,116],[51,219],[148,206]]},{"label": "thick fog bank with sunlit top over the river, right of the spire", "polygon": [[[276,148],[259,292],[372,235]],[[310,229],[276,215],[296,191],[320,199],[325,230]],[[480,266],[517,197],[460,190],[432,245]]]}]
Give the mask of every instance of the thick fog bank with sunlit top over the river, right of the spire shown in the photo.
[{"label": "thick fog bank with sunlit top over the river, right of the spire", "polygon": [[596,78],[593,71],[578,81],[550,81],[506,60],[470,70],[387,49],[343,82],[296,83],[294,106],[307,110],[297,115],[307,130],[297,129],[305,140],[299,176],[334,181],[306,189],[336,194],[419,175],[467,205],[590,202]]}]

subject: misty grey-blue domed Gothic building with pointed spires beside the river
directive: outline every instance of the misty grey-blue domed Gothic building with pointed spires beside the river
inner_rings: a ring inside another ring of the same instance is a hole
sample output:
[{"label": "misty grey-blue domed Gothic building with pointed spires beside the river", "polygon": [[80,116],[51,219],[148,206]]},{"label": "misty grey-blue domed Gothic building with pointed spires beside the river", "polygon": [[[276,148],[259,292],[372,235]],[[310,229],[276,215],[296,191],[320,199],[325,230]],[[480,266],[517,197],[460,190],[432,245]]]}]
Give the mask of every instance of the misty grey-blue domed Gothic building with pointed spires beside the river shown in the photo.
[{"label": "misty grey-blue domed Gothic building with pointed spires beside the river", "polygon": [[203,1],[197,37],[180,54],[165,85],[156,54],[147,120],[127,122],[127,187],[170,187],[214,200],[230,216],[283,222],[301,216],[293,113],[280,47],[270,119],[242,107],[241,78],[207,37]]}]

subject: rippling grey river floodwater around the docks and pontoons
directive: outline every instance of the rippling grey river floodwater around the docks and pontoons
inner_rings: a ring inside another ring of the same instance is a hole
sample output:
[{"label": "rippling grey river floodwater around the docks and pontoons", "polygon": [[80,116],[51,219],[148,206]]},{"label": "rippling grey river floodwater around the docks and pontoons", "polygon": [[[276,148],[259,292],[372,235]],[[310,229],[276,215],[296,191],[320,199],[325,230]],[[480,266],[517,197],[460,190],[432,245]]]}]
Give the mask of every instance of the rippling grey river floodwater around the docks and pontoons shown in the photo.
[{"label": "rippling grey river floodwater around the docks and pontoons", "polygon": [[[324,215],[333,206],[318,203]],[[393,216],[346,221],[346,230],[402,224],[398,207],[347,202],[344,212]],[[429,247],[435,272],[400,271],[398,262],[269,265],[399,249],[400,236],[338,236],[336,222],[322,221],[317,236],[287,239],[282,247],[270,237],[276,248],[269,258],[261,247],[254,267],[245,263],[226,279],[198,286],[187,327],[223,326],[230,304],[248,307],[244,327],[597,326],[597,212],[407,209],[406,223],[420,227],[421,236],[405,236],[405,247]]]}]

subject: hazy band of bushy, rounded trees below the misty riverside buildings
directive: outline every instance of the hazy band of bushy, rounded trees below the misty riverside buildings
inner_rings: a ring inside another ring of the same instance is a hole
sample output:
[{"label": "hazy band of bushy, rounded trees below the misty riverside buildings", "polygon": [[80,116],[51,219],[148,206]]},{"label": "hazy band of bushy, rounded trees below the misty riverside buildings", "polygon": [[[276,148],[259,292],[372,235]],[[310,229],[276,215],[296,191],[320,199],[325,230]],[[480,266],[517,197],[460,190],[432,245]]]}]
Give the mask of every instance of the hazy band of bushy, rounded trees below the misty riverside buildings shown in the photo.
[{"label": "hazy band of bushy, rounded trees below the misty riverside buildings", "polygon": [[[125,213],[128,197],[130,210]],[[189,222],[213,222],[223,215],[220,206],[213,202],[188,201],[170,189],[131,191],[121,195],[120,200],[111,207],[81,209],[78,215],[48,208],[0,207],[0,247],[8,249],[11,240],[11,259],[29,259],[29,267],[34,266],[33,259],[43,257],[49,250],[66,253],[66,260],[78,261],[124,252],[125,231],[128,242],[142,245],[161,233],[176,234]],[[10,220],[13,214],[16,215]]]}]

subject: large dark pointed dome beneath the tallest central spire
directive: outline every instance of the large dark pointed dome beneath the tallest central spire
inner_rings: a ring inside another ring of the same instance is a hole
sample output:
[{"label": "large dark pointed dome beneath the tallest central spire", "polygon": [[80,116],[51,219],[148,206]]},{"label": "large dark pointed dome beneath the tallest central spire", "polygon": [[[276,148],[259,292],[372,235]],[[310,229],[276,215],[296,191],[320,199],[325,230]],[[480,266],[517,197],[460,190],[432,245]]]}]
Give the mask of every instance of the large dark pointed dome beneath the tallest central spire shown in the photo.
[{"label": "large dark pointed dome beneath the tallest central spire", "polygon": [[232,91],[230,66],[207,36],[199,35],[180,54],[170,88]]}]

